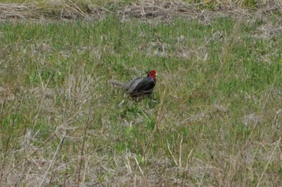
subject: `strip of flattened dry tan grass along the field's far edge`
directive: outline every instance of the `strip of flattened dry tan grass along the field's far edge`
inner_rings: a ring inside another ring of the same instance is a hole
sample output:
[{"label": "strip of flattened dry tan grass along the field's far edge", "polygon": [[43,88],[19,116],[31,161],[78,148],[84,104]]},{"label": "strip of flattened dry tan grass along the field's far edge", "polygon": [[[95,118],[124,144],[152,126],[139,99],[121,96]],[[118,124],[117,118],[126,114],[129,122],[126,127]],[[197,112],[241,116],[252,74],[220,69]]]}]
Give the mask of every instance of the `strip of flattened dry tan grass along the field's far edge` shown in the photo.
[{"label": "strip of flattened dry tan grass along the field's far edge", "polygon": [[263,16],[280,11],[282,1],[262,0],[256,8],[244,6],[244,0],[211,0],[209,3],[186,3],[180,0],[142,0],[121,6],[118,2],[108,2],[114,8],[105,8],[91,1],[43,1],[33,3],[0,3],[0,20],[17,19],[77,19],[95,20],[106,15],[130,18],[158,18],[172,17],[200,18],[205,20],[214,15],[225,16]]}]

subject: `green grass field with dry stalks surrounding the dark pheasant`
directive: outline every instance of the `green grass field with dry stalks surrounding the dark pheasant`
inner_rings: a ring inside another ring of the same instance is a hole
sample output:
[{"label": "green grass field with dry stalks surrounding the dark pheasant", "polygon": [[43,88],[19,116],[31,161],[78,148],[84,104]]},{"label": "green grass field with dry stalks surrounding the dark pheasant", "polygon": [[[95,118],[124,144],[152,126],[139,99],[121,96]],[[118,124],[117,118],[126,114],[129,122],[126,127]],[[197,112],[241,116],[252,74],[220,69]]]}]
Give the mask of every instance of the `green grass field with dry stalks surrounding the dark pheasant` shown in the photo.
[{"label": "green grass field with dry stalks surrounding the dark pheasant", "polygon": [[281,11],[200,13],[2,21],[0,186],[281,186]]}]

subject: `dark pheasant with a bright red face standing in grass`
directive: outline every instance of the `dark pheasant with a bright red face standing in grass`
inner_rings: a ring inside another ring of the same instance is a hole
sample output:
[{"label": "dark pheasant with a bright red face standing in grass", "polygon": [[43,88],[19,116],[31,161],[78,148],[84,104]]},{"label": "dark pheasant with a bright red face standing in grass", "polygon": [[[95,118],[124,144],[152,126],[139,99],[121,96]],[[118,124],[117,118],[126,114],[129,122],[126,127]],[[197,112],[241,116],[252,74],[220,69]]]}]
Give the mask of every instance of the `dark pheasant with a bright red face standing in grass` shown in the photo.
[{"label": "dark pheasant with a bright red face standing in grass", "polygon": [[156,76],[158,73],[154,69],[147,73],[146,77],[134,78],[128,82],[119,82],[115,80],[110,80],[110,82],[114,85],[123,87],[129,92],[131,97],[148,96],[151,98],[153,89],[156,85]]}]

